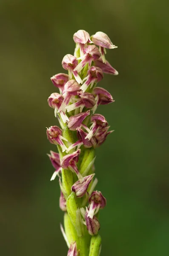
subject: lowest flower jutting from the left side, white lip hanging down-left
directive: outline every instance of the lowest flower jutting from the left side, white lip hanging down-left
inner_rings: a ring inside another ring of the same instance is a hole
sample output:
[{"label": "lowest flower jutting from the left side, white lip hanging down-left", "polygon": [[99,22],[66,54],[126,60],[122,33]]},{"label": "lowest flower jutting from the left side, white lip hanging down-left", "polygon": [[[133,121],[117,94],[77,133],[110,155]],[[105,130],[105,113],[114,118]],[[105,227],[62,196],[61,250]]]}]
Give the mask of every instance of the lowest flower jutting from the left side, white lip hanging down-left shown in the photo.
[{"label": "lowest flower jutting from the left side, white lip hanging down-left", "polygon": [[54,151],[50,151],[51,154],[47,154],[49,156],[49,159],[51,160],[52,166],[54,167],[55,171],[52,175],[51,180],[54,180],[55,177],[61,172],[61,166],[60,166],[60,156],[58,153],[55,153]]}]

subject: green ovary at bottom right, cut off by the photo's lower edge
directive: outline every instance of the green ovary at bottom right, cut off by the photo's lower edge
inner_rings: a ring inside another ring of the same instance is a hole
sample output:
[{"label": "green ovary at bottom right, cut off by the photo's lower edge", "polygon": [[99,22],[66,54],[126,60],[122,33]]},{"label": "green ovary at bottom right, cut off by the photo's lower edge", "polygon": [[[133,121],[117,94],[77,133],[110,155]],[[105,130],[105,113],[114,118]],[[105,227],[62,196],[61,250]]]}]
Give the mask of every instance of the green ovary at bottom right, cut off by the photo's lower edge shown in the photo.
[{"label": "green ovary at bottom right, cut off by the photo's lower edge", "polygon": [[99,256],[101,251],[101,236],[92,236],[90,241],[89,256]]}]

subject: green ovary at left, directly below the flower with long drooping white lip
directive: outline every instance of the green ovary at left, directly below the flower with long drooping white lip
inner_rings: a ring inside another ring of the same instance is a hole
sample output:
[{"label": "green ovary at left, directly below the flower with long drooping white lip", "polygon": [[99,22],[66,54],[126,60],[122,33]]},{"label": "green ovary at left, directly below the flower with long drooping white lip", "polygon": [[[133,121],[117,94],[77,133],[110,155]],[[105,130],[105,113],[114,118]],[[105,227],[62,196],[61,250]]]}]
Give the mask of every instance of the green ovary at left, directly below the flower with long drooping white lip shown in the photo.
[{"label": "green ovary at left, directly below the flower with long drooping white lip", "polygon": [[70,170],[62,169],[62,186],[63,186],[63,195],[65,199],[71,194],[71,187],[73,185],[73,174]]}]

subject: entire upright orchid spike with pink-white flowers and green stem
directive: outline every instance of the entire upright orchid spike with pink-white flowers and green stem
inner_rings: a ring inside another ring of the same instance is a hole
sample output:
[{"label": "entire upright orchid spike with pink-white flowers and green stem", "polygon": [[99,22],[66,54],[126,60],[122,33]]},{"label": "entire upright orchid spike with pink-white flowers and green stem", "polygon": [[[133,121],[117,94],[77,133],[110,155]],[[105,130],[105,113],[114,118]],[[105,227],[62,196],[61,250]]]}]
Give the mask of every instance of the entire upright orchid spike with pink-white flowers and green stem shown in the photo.
[{"label": "entire upright orchid spike with pink-white flowers and green stem", "polygon": [[85,30],[73,36],[74,55],[67,54],[59,73],[51,80],[60,93],[52,93],[48,103],[54,109],[61,128],[47,128],[50,143],[59,153],[48,154],[55,171],[51,180],[59,177],[60,209],[65,212],[61,231],[69,247],[68,256],[97,256],[101,250],[98,235],[98,213],[106,206],[106,198],[94,190],[95,148],[112,132],[105,117],[95,113],[99,105],[114,102],[112,95],[97,87],[103,73],[118,75],[105,58],[106,48],[117,48],[103,32],[90,37]]}]

